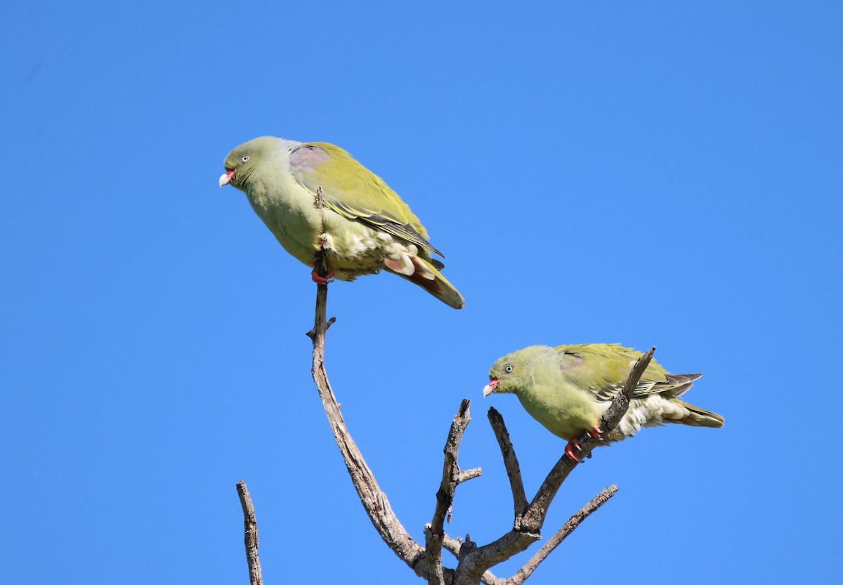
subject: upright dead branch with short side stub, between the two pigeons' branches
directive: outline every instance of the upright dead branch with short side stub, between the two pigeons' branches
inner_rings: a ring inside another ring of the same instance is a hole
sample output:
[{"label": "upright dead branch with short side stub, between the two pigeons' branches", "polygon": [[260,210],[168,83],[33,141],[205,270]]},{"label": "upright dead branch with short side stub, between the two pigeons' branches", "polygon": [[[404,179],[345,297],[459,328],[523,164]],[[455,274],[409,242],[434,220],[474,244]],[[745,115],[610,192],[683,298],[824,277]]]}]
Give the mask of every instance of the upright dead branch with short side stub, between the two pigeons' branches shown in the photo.
[{"label": "upright dead branch with short side stub, between the two pigeons' branches", "polygon": [[444,523],[445,516],[448,522],[451,521],[451,507],[454,504],[454,492],[457,485],[463,481],[481,475],[480,468],[473,470],[460,470],[457,462],[459,444],[463,440],[463,433],[469,426],[471,416],[469,406],[471,400],[463,399],[459,405],[459,411],[454,416],[451,428],[448,431],[448,439],[445,441],[445,462],[442,470],[442,482],[436,492],[436,507],[433,510],[433,519],[425,530],[425,549],[427,550],[427,582],[430,585],[444,585],[442,569],[442,545],[445,538]]}]

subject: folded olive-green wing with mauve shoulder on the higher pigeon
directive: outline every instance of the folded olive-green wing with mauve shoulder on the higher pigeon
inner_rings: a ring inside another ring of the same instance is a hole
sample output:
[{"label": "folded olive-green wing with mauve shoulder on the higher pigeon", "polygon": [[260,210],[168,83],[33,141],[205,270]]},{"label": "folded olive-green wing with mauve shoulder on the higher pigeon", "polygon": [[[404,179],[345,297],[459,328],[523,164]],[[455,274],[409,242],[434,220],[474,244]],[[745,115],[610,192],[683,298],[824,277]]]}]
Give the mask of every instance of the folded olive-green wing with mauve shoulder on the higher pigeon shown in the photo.
[{"label": "folded olive-green wing with mauve shoulder on the higher pigeon", "polygon": [[322,188],[322,201],[331,211],[444,257],[398,194],[342,148],[327,142],[300,144],[290,152],[290,169],[314,195]]}]

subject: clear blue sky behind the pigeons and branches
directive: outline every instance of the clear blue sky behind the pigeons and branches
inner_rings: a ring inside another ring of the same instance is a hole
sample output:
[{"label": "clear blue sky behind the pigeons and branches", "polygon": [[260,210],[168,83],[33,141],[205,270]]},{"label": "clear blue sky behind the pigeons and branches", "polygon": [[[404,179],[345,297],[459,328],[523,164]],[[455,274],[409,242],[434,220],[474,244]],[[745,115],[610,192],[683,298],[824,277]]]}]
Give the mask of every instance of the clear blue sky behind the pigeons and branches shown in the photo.
[{"label": "clear blue sky behind the pigeons and branches", "polygon": [[382,176],[466,298],[330,288],[331,381],[416,539],[460,399],[484,475],[449,534],[511,526],[490,405],[528,492],[561,454],[481,399],[497,357],[656,345],[726,427],[600,449],[545,536],[620,492],[531,582],[836,582],[840,3],[354,4],[4,8],[0,581],[248,582],[246,480],[267,583],[421,582],[325,422],[308,269],[217,187],[270,134]]}]

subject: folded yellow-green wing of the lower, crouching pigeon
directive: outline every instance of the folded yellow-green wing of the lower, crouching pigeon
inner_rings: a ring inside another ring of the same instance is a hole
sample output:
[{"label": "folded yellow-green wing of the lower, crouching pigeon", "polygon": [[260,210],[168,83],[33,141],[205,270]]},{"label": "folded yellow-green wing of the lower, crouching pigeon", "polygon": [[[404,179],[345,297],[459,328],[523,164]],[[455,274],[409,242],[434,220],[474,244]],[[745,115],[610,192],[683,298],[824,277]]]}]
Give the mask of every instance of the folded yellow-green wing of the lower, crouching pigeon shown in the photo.
[{"label": "folded yellow-green wing of the lower, crouching pigeon", "polygon": [[[641,352],[609,343],[558,346],[556,354],[562,376],[579,388],[588,389],[601,401],[612,400],[623,388]],[[655,360],[650,362],[632,392],[633,398],[647,394],[680,396],[701,373],[669,374]]]}]

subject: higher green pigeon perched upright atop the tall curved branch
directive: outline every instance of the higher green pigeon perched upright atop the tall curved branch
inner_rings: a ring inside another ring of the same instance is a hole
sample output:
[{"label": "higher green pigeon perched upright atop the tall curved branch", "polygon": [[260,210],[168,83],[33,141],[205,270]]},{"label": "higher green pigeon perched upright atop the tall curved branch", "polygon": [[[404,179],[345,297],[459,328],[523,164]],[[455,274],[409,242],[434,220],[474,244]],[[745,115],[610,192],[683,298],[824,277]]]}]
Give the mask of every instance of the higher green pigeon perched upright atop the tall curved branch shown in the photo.
[{"label": "higher green pigeon perched upright atop the tall curved branch", "polygon": [[[454,309],[465,302],[439,272],[427,230],[395,191],[342,148],[260,137],[225,158],[219,185],[244,191],[258,217],[294,257],[352,281],[381,270],[403,276]],[[328,282],[313,271],[315,282]]]}]

